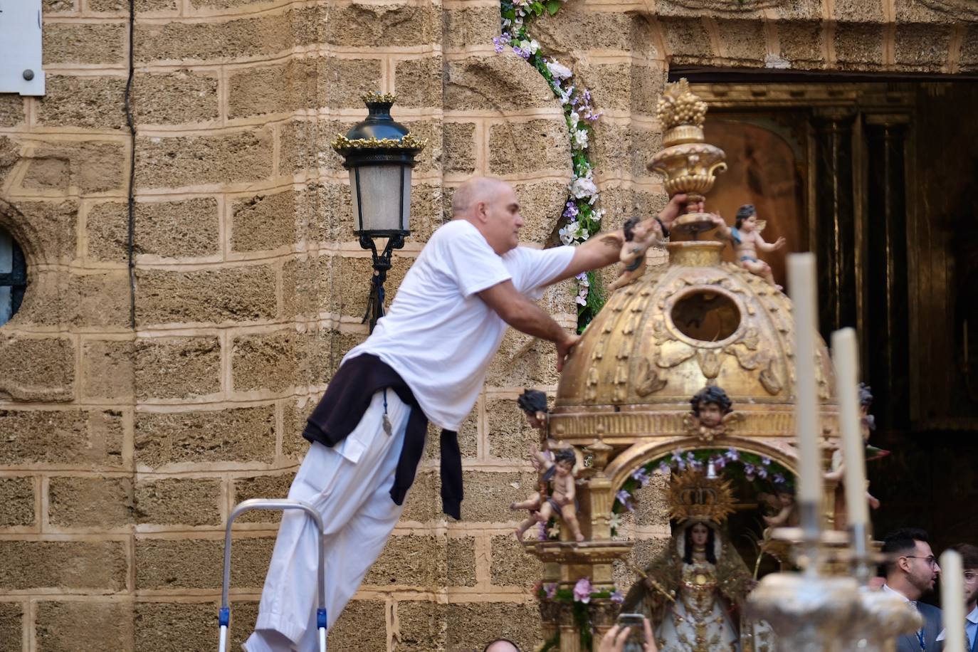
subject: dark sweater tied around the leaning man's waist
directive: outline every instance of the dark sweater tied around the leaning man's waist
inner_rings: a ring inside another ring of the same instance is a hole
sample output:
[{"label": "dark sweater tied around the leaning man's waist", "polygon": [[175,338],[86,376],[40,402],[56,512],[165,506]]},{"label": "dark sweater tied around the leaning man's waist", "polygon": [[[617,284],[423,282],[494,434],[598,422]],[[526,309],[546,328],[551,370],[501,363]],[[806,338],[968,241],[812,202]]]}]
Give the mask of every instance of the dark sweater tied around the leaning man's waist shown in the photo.
[{"label": "dark sweater tied around the leaning man's waist", "polygon": [[[374,394],[385,387],[411,407],[404,448],[397,460],[394,486],[390,489],[390,498],[403,504],[422,459],[427,417],[400,374],[377,356],[359,355],[339,367],[326,394],[309,415],[302,436],[332,448],[353,432],[370,407]],[[458,434],[452,430],[441,431],[441,504],[446,514],[455,519],[462,518],[462,452]]]}]

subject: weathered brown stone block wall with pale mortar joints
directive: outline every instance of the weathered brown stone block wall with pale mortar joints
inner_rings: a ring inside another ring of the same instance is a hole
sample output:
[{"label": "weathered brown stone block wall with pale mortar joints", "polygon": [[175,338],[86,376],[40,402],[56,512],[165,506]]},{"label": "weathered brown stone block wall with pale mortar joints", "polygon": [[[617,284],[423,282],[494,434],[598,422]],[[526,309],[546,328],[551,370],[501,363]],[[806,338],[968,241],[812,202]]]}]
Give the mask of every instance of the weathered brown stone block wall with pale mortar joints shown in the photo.
[{"label": "weathered brown stone block wall with pale mortar joints", "polygon": [[[48,94],[0,95],[0,223],[30,274],[21,312],[0,327],[3,652],[213,648],[227,513],[285,495],[304,415],[366,336],[369,254],[328,147],[365,114],[362,92],[396,92],[395,117],[429,139],[391,292],[472,174],[516,185],[535,244],[552,238],[570,178],[556,100],[530,66],[493,52],[495,0],[136,8],[134,156],[124,0],[45,0]],[[534,33],[604,111],[594,155],[615,225],[664,202],[645,163],[669,65],[970,70],[974,19],[964,0],[571,0]],[[571,294],[545,299],[568,326]],[[439,513],[429,450],[331,649],[536,639],[527,589],[539,569],[507,509],[532,488],[532,435],[512,399],[555,383],[552,347],[508,335],[460,433],[464,520]],[[639,561],[668,531],[646,494],[622,528]],[[236,641],[275,528],[268,516],[238,528]]]}]

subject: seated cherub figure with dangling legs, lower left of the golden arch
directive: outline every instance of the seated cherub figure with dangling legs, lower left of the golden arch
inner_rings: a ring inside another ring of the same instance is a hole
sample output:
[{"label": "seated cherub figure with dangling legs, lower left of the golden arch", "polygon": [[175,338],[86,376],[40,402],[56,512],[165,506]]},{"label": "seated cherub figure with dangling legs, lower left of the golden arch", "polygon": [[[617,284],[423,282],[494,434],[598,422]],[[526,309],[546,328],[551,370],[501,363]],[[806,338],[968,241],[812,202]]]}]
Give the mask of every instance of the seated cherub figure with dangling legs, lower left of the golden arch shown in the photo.
[{"label": "seated cherub figure with dangling legs, lower left of the golden arch", "polygon": [[511,510],[526,509],[530,512],[530,517],[519,524],[516,528],[516,539],[523,541],[523,535],[536,523],[546,525],[551,516],[558,515],[563,522],[570,528],[574,540],[584,541],[581,534],[581,526],[577,521],[577,490],[574,485],[573,468],[577,461],[572,449],[559,449],[556,453],[550,454],[548,451],[534,451],[533,465],[538,471],[542,471],[545,480],[552,480],[554,492],[552,496],[547,496],[541,492],[534,492],[522,502],[512,502]]}]

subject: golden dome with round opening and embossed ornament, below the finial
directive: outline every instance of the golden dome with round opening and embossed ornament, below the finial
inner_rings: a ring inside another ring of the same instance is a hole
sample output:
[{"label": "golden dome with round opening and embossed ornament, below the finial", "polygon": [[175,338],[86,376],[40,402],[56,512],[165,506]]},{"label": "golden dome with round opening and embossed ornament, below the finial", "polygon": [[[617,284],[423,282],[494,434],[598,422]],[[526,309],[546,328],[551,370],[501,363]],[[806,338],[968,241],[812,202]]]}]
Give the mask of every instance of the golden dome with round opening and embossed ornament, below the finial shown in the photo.
[{"label": "golden dome with round opening and embossed ornament, below the finial", "polygon": [[[792,436],[790,300],[721,263],[723,242],[668,246],[670,264],[612,294],[574,347],[557,385],[554,433],[581,443],[679,435],[690,397],[711,384],[742,414],[737,435]],[[821,339],[817,355],[822,428],[831,437],[836,406]]]}]

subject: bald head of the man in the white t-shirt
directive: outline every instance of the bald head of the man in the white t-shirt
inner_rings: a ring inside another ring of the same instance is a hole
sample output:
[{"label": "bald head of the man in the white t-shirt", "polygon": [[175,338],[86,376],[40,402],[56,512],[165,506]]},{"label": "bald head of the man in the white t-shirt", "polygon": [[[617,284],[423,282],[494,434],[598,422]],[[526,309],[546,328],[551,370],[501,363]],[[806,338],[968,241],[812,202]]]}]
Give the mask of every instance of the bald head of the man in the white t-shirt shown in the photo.
[{"label": "bald head of the man in the white t-shirt", "polygon": [[519,244],[523,218],[512,186],[501,179],[475,177],[452,197],[452,219],[465,220],[502,256]]}]

